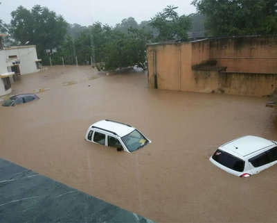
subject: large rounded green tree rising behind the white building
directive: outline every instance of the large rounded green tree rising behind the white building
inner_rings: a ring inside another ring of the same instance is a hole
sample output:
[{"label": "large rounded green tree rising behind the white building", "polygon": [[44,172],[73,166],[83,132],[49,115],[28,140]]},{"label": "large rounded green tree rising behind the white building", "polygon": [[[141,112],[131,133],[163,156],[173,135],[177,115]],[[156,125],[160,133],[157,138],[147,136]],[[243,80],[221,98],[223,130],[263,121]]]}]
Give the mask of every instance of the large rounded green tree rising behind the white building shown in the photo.
[{"label": "large rounded green tree rising behind the white building", "polygon": [[58,48],[64,41],[67,23],[62,16],[46,7],[34,6],[28,10],[19,6],[12,11],[11,34],[19,44],[37,45],[39,56],[45,49]]}]

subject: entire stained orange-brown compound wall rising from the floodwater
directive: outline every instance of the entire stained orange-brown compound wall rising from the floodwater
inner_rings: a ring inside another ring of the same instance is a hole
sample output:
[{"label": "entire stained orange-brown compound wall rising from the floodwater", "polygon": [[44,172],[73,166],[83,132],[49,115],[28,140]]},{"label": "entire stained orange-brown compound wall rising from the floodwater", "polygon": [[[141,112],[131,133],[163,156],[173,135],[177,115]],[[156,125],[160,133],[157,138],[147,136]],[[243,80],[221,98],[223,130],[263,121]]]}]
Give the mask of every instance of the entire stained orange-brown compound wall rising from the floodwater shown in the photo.
[{"label": "entire stained orange-brown compound wall rising from the floodwater", "polygon": [[[277,37],[151,44],[147,54],[150,88],[155,71],[159,89],[263,96],[277,88]],[[216,67],[193,69],[208,60]]]}]

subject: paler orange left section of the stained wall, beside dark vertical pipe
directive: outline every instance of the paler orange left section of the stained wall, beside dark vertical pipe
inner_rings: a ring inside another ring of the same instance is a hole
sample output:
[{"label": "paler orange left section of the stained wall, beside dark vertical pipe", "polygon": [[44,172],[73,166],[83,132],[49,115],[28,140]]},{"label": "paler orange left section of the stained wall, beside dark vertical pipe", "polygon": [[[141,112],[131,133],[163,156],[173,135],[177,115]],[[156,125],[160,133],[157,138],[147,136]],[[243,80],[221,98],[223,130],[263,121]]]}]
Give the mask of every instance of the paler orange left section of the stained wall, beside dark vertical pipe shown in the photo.
[{"label": "paler orange left section of the stained wall, beside dark vertical pipe", "polygon": [[[193,87],[191,72],[191,44],[151,45],[148,47],[148,83],[154,88],[156,61],[157,83],[159,89],[186,90]],[[156,60],[154,59],[156,54]],[[190,74],[190,75],[188,75]]]}]

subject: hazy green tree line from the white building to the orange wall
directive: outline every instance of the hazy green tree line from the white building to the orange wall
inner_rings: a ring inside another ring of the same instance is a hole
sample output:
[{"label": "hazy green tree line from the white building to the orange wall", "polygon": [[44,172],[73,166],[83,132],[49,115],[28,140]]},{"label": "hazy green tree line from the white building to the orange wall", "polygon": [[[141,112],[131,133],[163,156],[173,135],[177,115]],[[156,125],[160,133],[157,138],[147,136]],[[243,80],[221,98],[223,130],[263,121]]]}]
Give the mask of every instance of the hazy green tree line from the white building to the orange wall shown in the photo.
[{"label": "hazy green tree line from the white building to the orange wall", "polygon": [[[12,11],[10,33],[18,44],[35,44],[44,64],[105,63],[106,69],[139,65],[145,68],[146,44],[163,40],[186,40],[190,17],[179,16],[177,7],[168,6],[151,21],[138,24],[133,17],[113,28],[100,22],[91,26],[69,25],[46,7],[31,10],[19,6]],[[51,55],[46,49],[56,49]]]}]

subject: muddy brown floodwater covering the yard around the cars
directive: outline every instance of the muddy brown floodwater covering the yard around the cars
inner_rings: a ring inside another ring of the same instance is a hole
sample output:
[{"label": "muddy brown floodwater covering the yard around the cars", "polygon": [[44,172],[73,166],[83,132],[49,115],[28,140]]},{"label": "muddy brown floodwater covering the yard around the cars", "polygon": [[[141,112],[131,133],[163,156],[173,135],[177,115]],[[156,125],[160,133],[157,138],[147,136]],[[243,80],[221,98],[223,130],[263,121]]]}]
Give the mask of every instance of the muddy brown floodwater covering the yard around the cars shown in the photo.
[{"label": "muddy brown floodwater covering the yard around the cars", "polygon": [[[156,222],[276,222],[277,165],[240,179],[208,160],[242,135],[277,140],[266,98],[151,90],[143,73],[105,76],[90,67],[51,67],[12,88],[50,90],[0,106],[1,158]],[[87,127],[107,118],[152,143],[127,154],[85,141]]]}]

